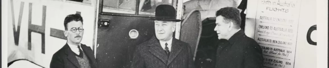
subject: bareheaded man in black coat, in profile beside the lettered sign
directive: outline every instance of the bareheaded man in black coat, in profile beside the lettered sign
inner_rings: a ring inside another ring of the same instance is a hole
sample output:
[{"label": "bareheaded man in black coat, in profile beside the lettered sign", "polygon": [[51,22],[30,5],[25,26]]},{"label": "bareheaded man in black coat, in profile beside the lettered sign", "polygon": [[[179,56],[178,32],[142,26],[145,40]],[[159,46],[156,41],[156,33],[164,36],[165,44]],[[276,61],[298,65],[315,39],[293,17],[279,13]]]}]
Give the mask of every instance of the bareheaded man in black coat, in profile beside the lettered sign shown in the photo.
[{"label": "bareheaded man in black coat, in profile beside the lettered sign", "polygon": [[263,68],[263,54],[259,44],[247,37],[240,28],[240,11],[226,7],[216,12],[218,39],[216,68]]}]

